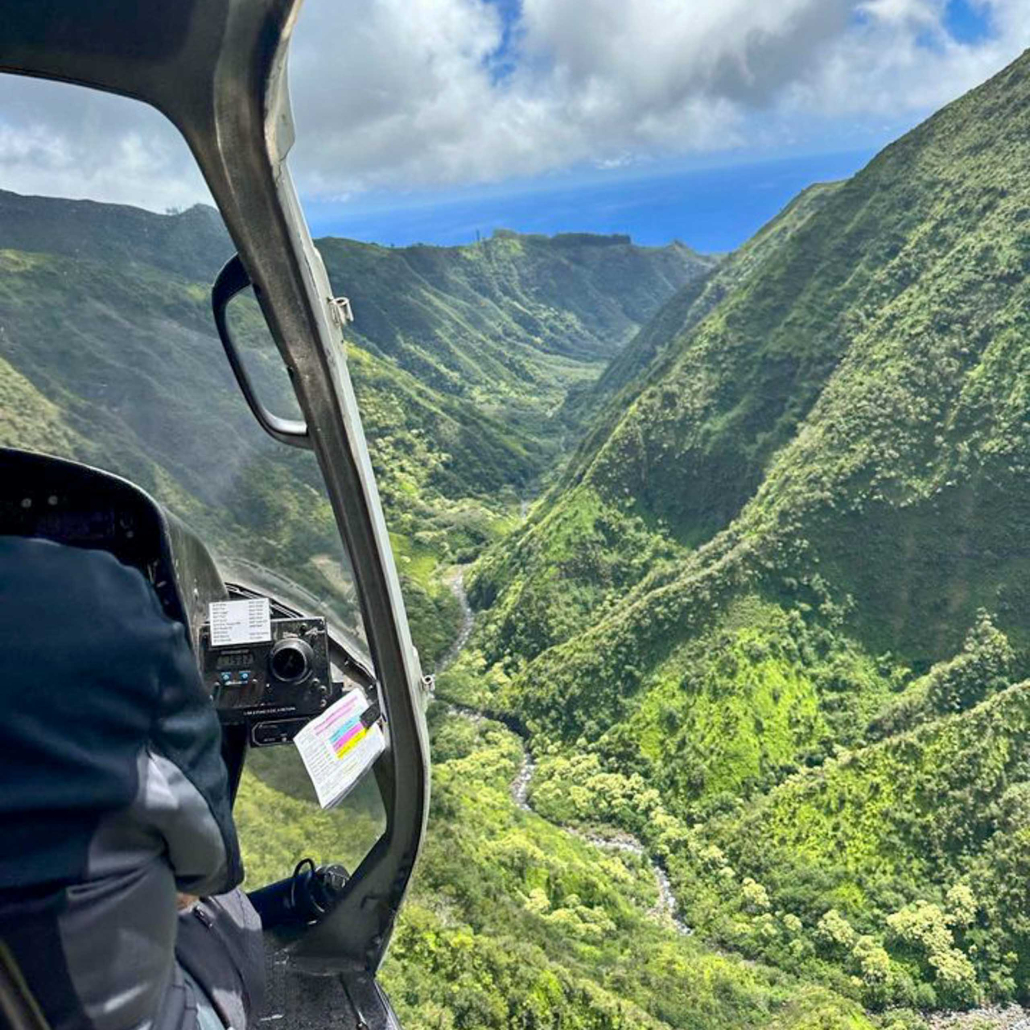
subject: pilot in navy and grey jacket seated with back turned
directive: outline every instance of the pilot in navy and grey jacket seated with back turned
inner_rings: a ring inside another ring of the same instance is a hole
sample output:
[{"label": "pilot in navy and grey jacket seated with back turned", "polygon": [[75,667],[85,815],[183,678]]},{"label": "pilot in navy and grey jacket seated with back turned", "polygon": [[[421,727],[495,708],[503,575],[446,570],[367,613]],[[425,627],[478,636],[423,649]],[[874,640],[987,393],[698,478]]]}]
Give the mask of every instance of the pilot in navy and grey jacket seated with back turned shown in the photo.
[{"label": "pilot in navy and grey jacket seated with back turned", "polygon": [[139,572],[0,536],[0,941],[52,1030],[258,1019],[219,742],[186,630]]}]

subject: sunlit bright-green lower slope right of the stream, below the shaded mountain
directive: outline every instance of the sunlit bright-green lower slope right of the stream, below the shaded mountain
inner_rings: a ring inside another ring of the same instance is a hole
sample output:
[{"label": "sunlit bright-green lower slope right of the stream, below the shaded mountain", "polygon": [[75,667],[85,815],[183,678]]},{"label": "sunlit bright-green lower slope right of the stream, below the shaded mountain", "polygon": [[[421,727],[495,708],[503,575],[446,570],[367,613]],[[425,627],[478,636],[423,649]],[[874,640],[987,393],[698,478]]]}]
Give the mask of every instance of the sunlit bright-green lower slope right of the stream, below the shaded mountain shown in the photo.
[{"label": "sunlit bright-green lower slope right of the stream, below the shaded mountain", "polygon": [[[755,604],[595,744],[538,743],[537,811],[634,832],[706,939],[891,1019],[1025,998],[1028,688],[1005,686],[1007,641],[982,617],[906,687]],[[856,739],[885,713],[918,726]]]}]

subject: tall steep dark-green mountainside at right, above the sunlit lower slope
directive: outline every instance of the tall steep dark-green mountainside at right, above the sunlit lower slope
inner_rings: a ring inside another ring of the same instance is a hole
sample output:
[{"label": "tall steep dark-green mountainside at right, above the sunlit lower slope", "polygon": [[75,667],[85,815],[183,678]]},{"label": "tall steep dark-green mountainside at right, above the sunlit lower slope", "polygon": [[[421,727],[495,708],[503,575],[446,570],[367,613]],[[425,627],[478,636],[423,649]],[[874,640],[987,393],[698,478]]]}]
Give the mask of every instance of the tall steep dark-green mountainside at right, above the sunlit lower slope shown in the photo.
[{"label": "tall steep dark-green mountainside at right, above the sunlit lower slope", "polygon": [[[871,647],[914,662],[951,653],[982,606],[1019,636],[1026,67],[889,147],[678,340],[583,488],[541,506],[479,589],[524,595],[563,553],[637,553],[595,514],[621,512],[682,559],[645,584],[656,604],[722,589],[720,565],[777,591],[819,571]],[[650,622],[637,650],[653,664],[674,640],[637,596],[595,632]]]}]

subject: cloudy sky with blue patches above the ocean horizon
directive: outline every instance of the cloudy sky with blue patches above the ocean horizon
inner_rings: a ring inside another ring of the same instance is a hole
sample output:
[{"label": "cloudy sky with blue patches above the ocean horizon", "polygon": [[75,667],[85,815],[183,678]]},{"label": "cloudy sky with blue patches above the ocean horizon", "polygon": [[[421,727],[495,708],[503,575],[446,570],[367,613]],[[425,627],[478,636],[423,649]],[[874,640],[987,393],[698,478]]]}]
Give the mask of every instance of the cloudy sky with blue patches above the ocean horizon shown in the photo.
[{"label": "cloudy sky with blue patches above the ocean horizon", "polygon": [[[307,0],[291,163],[302,191],[330,199],[817,148],[852,126],[911,124],[1030,42],[1025,0],[973,2],[992,32],[964,44],[946,0],[522,0],[507,26],[487,0]],[[12,79],[0,187],[151,207],[205,196],[154,112]]]}]

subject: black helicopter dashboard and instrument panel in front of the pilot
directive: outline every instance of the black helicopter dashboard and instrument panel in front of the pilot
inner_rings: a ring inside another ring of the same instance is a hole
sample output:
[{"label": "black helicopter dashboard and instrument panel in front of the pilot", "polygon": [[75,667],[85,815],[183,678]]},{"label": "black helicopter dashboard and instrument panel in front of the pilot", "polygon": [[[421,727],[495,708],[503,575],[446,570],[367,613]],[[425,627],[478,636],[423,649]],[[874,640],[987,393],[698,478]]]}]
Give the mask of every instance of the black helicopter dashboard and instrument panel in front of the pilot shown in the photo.
[{"label": "black helicopter dashboard and instrument panel in front of the pilot", "polygon": [[[128,480],[78,462],[0,449],[0,535],[108,551],[139,570],[169,616],[190,630],[227,737],[243,747],[291,741],[337,700],[325,620],[232,590],[204,544]],[[250,597],[268,611],[263,639],[212,640],[212,603]],[[273,617],[274,616],[274,617]],[[230,732],[231,730],[231,732]]]}]

